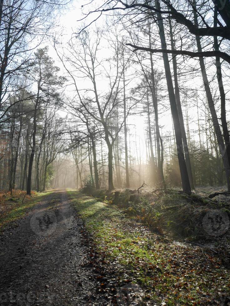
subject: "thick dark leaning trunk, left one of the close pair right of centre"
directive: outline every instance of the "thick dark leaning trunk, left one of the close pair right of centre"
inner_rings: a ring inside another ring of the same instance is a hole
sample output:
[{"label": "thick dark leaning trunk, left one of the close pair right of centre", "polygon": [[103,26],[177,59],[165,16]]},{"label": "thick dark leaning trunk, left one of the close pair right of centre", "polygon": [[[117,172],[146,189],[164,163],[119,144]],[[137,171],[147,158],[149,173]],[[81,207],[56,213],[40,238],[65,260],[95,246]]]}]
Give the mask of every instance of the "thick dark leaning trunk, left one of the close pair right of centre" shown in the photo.
[{"label": "thick dark leaning trunk, left one of the close pair right of centre", "polygon": [[[155,0],[155,3],[156,3],[157,9],[160,9],[159,1]],[[161,47],[162,49],[167,49],[165,34],[164,34],[163,19],[160,13],[157,13],[157,16],[158,16],[159,35],[161,39]],[[175,94],[174,94],[173,81],[172,81],[167,53],[163,53],[163,62],[164,62],[165,76],[166,76],[166,81],[167,81],[167,86],[168,86],[168,96],[169,96],[169,101],[170,101],[170,107],[171,107],[171,112],[173,116],[173,125],[174,125],[175,137],[176,137],[177,155],[178,155],[178,162],[179,162],[179,168],[180,168],[180,174],[181,174],[182,187],[183,187],[184,192],[190,193],[191,187],[189,183],[187,167],[186,167],[185,158],[184,158],[180,121],[179,121],[179,116],[178,116],[178,111],[177,111],[177,104],[176,104],[176,99],[175,99]]]}]

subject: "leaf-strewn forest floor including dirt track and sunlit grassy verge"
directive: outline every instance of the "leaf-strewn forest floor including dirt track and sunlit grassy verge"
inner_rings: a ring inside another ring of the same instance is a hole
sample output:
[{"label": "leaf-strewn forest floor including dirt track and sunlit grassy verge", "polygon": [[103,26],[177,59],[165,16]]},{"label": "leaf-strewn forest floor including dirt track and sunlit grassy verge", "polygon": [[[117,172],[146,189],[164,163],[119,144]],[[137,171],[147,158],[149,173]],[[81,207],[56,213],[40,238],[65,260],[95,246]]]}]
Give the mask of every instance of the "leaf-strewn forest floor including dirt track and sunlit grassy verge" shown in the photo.
[{"label": "leaf-strewn forest floor including dirt track and sunlit grassy verge", "polygon": [[229,269],[209,247],[77,191],[40,197],[0,221],[0,304],[230,305]]}]

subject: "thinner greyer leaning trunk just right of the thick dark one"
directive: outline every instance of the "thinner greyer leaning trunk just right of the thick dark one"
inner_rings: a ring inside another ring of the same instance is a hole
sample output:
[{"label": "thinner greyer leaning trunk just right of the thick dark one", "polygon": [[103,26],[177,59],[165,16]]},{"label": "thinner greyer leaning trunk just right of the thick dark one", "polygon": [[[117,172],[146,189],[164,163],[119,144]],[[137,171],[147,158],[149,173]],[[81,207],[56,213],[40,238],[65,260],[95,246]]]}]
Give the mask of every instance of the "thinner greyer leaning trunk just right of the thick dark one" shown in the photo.
[{"label": "thinner greyer leaning trunk just right of the thick dark one", "polygon": [[[169,18],[169,29],[170,29],[171,48],[172,48],[172,50],[175,50],[175,44],[174,44],[174,41],[173,41],[173,30],[172,30],[171,18]],[[176,103],[177,103],[177,111],[178,111],[180,127],[181,127],[181,135],[182,135],[182,141],[183,141],[185,163],[186,163],[186,167],[187,167],[190,186],[191,186],[192,189],[195,189],[194,188],[194,183],[193,183],[193,178],[192,178],[192,167],[191,167],[190,156],[189,156],[189,151],[188,151],[187,136],[186,136],[185,127],[184,127],[183,112],[182,112],[182,108],[181,108],[181,99],[180,99],[180,90],[179,90],[179,84],[178,84],[176,55],[173,55],[173,75],[174,75],[174,85],[175,85],[175,99],[176,99]]]}]

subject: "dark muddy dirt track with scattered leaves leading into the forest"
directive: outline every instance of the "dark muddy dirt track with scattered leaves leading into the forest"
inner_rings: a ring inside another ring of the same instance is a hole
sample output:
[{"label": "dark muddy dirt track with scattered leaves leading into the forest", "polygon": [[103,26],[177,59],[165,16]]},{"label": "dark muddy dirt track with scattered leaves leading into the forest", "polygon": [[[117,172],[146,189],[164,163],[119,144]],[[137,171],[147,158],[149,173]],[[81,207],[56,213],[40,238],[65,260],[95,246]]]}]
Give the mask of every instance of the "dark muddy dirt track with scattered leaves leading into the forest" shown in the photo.
[{"label": "dark muddy dirt track with scattered leaves leading into the forest", "polygon": [[65,190],[56,190],[7,230],[0,240],[0,304],[94,305],[82,229]]}]

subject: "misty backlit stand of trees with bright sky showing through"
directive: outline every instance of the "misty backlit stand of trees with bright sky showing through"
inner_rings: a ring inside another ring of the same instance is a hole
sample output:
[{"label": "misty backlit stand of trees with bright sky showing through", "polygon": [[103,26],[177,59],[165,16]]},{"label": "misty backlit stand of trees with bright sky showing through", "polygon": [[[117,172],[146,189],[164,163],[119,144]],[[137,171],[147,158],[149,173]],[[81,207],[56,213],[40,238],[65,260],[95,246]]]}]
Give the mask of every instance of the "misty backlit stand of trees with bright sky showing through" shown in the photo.
[{"label": "misty backlit stand of trees with bright sky showing through", "polygon": [[230,191],[229,2],[78,6],[2,2],[1,188]]}]

